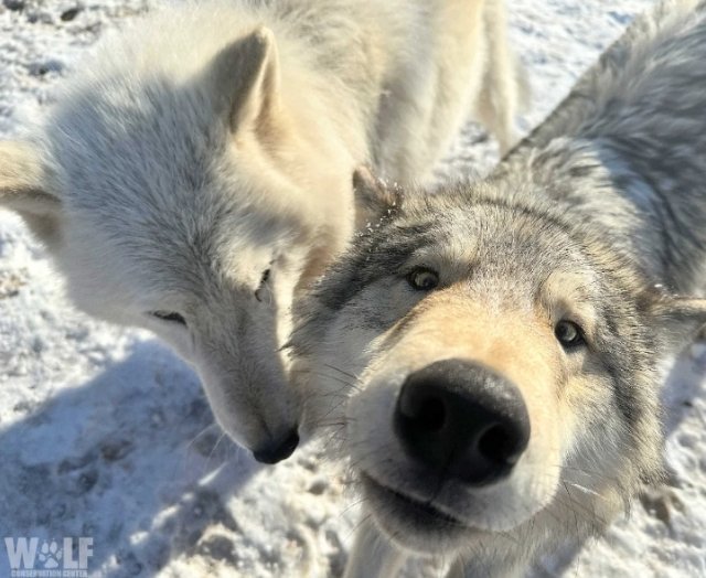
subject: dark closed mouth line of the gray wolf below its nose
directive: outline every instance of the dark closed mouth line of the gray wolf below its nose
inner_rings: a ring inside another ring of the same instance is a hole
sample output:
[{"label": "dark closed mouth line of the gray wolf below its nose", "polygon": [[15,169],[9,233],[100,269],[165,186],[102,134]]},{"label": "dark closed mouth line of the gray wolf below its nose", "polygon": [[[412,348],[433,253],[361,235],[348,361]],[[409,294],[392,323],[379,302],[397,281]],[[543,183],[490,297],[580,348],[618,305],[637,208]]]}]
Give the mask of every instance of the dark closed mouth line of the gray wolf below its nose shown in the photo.
[{"label": "dark closed mouth line of the gray wolf below its nose", "polygon": [[371,501],[373,511],[378,514],[383,525],[386,525],[385,518],[392,515],[404,526],[419,531],[445,531],[448,533],[450,529],[454,529],[473,532],[473,528],[456,517],[437,510],[427,502],[420,502],[382,485],[365,472],[361,473],[361,481],[365,496]]}]

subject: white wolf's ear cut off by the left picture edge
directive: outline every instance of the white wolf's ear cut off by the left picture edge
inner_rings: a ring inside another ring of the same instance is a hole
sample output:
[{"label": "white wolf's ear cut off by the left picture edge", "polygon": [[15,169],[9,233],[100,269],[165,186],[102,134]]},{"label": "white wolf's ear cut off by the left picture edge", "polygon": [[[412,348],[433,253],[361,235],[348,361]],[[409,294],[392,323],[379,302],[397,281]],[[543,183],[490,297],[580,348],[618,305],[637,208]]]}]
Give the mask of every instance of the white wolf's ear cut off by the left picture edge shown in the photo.
[{"label": "white wolf's ear cut off by the left picture edge", "polygon": [[44,243],[57,240],[62,203],[34,148],[0,141],[0,206],[17,211]]}]

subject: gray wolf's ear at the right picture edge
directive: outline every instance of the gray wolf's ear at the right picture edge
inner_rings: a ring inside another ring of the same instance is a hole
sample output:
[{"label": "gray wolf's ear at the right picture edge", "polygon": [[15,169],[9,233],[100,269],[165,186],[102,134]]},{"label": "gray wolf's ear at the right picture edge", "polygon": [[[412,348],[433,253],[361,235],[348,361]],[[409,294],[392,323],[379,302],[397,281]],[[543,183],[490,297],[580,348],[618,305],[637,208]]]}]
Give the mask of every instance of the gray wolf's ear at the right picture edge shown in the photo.
[{"label": "gray wolf's ear at the right picture edge", "polygon": [[661,296],[648,307],[660,336],[673,347],[681,349],[706,325],[706,299]]}]

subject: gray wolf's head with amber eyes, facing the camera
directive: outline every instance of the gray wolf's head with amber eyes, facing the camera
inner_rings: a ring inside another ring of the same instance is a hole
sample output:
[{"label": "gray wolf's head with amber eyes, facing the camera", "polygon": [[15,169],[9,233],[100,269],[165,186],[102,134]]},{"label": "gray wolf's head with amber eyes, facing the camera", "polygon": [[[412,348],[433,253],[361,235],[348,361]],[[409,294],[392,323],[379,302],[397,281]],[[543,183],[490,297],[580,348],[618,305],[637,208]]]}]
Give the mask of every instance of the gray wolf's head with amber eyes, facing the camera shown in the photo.
[{"label": "gray wolf's head with amber eyes, facing the camera", "polygon": [[452,554],[596,531],[659,477],[657,366],[706,302],[484,184],[405,199],[296,317],[306,428],[386,535]]}]

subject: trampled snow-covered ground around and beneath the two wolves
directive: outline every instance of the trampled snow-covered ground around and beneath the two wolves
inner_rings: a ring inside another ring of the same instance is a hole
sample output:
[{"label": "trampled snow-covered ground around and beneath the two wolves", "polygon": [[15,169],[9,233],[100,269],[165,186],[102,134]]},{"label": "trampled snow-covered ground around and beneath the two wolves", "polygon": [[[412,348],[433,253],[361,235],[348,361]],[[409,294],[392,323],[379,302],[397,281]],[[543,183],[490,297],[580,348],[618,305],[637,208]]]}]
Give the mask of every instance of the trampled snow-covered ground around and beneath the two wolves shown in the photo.
[{"label": "trampled snow-covered ground around and beneath the two wolves", "polygon": [[[2,0],[0,137],[51,101],[101,34],[153,3]],[[652,3],[509,0],[534,93],[522,127],[538,122]],[[471,127],[440,173],[482,171],[493,154]],[[671,371],[668,486],[537,576],[706,576],[705,375],[702,344]],[[256,464],[213,426],[183,363],[149,334],[73,309],[44,251],[0,212],[0,537],[93,537],[95,576],[338,576],[355,497],[320,453],[311,446],[276,467]],[[9,575],[0,543],[0,577]]]}]

